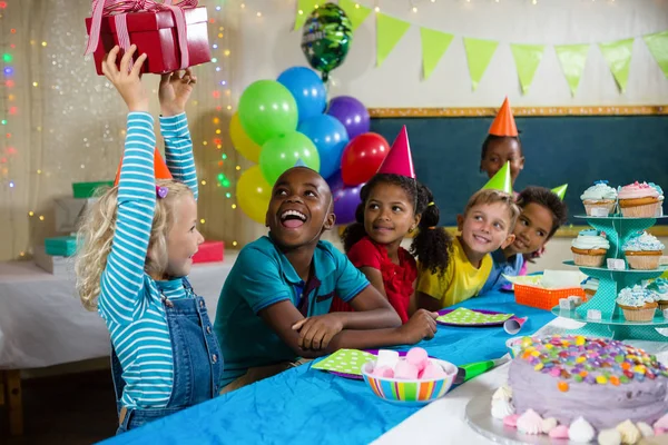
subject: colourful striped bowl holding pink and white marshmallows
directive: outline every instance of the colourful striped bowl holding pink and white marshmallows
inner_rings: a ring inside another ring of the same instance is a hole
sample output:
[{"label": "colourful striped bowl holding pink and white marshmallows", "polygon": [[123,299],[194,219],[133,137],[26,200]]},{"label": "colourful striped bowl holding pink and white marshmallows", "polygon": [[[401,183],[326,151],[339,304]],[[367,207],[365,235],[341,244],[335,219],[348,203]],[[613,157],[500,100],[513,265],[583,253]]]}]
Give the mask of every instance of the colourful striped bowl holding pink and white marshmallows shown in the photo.
[{"label": "colourful striped bowl holding pink and white marshmallows", "polygon": [[456,366],[453,364],[435,358],[431,360],[441,366],[448,373],[448,376],[434,380],[404,380],[379,377],[370,374],[373,370],[373,362],[362,366],[362,376],[373,394],[386,402],[402,405],[426,405],[436,398],[443,397],[452,386],[454,377],[456,377]]}]

